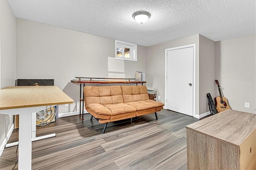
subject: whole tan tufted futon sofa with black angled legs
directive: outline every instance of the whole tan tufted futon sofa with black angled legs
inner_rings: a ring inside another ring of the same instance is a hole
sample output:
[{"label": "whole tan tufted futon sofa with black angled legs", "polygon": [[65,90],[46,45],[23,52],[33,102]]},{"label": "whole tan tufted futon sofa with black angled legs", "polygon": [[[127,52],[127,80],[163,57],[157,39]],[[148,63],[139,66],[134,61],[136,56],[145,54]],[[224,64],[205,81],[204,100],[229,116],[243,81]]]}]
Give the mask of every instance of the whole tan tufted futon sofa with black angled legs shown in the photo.
[{"label": "whole tan tufted futon sofa with black angled legs", "polygon": [[85,86],[84,103],[92,117],[105,123],[102,133],[108,122],[149,113],[156,115],[164,106],[161,102],[149,100],[146,86]]}]

